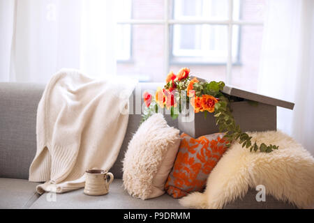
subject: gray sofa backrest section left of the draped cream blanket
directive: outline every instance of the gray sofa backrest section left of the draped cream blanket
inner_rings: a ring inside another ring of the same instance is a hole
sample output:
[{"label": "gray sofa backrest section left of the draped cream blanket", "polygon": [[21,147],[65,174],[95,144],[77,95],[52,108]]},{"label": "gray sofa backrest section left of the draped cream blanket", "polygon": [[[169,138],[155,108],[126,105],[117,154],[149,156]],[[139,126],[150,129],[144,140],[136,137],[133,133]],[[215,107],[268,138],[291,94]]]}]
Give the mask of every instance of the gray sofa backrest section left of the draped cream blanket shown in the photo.
[{"label": "gray sofa backrest section left of the draped cream blanket", "polygon": [[0,177],[29,176],[36,153],[36,110],[44,86],[0,83]]}]

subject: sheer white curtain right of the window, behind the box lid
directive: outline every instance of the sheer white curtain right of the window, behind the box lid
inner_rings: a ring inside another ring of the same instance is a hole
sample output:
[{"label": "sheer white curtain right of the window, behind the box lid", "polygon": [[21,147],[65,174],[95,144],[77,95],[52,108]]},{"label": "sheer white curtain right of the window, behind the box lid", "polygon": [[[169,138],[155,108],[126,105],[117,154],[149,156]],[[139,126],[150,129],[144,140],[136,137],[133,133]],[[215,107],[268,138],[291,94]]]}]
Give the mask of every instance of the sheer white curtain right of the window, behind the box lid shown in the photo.
[{"label": "sheer white curtain right of the window, behind the box lid", "polygon": [[295,103],[278,108],[278,129],[314,155],[314,1],[270,0],[259,91]]}]

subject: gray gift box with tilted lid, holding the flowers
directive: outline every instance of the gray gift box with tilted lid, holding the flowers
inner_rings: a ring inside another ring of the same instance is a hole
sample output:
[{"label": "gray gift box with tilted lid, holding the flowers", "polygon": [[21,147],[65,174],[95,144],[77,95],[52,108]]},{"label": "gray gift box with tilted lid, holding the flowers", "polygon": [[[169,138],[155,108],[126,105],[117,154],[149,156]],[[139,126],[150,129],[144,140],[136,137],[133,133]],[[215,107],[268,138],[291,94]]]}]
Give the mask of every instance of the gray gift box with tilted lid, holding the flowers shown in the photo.
[{"label": "gray gift box with tilted lid, holding the flowers", "polygon": [[[240,125],[241,130],[244,132],[277,130],[277,106],[287,109],[293,109],[294,107],[292,102],[270,98],[232,86],[225,86],[223,93],[241,99],[241,101],[230,102],[230,107],[236,125]],[[257,103],[252,103],[252,101]],[[179,114],[179,130],[186,132],[191,137],[219,132],[213,114],[207,114],[205,118],[204,112],[196,114],[193,112],[191,114],[192,112],[193,109],[188,109],[186,114]]]}]

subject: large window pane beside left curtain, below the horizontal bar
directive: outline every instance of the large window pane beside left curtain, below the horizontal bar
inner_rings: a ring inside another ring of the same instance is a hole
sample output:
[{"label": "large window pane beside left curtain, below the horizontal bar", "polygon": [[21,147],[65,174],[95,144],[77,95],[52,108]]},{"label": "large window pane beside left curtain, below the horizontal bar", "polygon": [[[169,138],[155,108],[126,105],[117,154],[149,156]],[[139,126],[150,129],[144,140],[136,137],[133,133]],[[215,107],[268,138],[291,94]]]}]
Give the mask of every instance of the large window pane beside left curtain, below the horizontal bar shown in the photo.
[{"label": "large window pane beside left curtain, below the horizontal bar", "polygon": [[118,75],[138,77],[140,81],[163,82],[164,26],[142,24],[129,26],[131,26],[131,56],[129,61],[118,61]]}]

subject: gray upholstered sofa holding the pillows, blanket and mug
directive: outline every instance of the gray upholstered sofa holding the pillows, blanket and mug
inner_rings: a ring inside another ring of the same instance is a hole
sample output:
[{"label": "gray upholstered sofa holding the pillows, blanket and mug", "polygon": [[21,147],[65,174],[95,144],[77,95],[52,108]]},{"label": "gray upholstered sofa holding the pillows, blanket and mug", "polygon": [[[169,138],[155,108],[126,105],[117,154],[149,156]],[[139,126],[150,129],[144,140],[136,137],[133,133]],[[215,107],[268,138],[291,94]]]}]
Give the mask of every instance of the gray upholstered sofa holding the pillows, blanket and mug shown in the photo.
[{"label": "gray upholstered sofa holding the pillows, blanket and mug", "polygon": [[[154,90],[160,84],[141,83],[139,86],[143,92]],[[121,152],[110,170],[115,179],[109,194],[89,197],[82,189],[56,194],[55,199],[52,199],[53,194],[36,194],[38,183],[27,179],[36,153],[36,109],[44,87],[43,84],[0,83],[0,208],[184,208],[167,194],[142,201],[130,197],[123,189],[121,159],[140,124],[140,114],[130,115]],[[141,91],[135,92],[139,95]],[[169,125],[177,127],[177,121],[169,115],[165,117]],[[243,199],[237,199],[225,208],[294,208],[271,196],[267,196],[265,202],[257,202],[256,193],[249,190]]]}]

